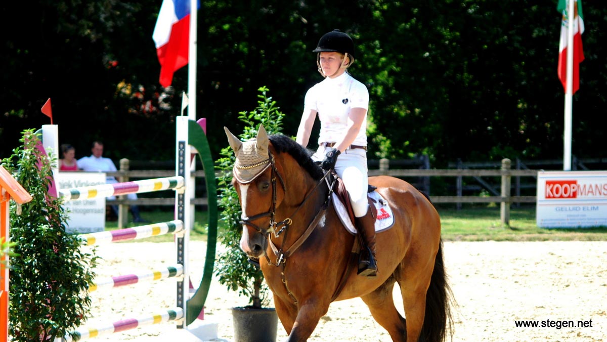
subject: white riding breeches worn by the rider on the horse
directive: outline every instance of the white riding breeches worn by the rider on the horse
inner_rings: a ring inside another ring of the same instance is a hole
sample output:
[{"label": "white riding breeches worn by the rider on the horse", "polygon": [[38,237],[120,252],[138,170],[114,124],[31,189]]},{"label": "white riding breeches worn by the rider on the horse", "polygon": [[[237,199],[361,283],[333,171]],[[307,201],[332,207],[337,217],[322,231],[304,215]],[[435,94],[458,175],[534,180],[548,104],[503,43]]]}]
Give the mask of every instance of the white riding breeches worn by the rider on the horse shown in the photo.
[{"label": "white riding breeches worn by the rider on the horse", "polygon": [[[330,147],[320,146],[312,156],[314,161],[322,161]],[[342,180],[354,210],[354,216],[362,217],[367,214],[369,203],[367,200],[367,151],[361,148],[347,149],[337,156],[335,172]]]}]

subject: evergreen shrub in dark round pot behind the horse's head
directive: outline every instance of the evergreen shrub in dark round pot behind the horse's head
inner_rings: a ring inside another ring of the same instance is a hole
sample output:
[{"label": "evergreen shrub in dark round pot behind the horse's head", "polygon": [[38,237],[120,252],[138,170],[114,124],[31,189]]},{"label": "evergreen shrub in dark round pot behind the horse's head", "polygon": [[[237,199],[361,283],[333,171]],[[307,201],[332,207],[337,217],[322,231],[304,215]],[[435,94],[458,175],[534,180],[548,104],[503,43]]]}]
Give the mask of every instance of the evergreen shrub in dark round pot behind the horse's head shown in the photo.
[{"label": "evergreen shrub in dark round pot behind the horse's head", "polygon": [[[282,129],[284,114],[279,111],[276,101],[268,97],[268,89],[260,87],[257,108],[250,112],[240,112],[239,119],[245,128],[239,138],[252,139],[257,136],[260,124],[268,134],[276,134]],[[270,291],[263,279],[262,271],[257,265],[248,261],[245,253],[240,250],[242,225],[239,224],[240,202],[236,190],[231,185],[232,167],[236,161],[234,152],[229,146],[221,151],[217,160],[217,169],[221,171],[219,182],[219,205],[222,208],[220,221],[223,229],[219,233],[219,241],[225,248],[216,261],[215,275],[220,284],[228,286],[232,291],[249,298],[249,305],[234,307],[234,341],[235,342],[267,342],[276,341],[278,318],[276,311],[268,307]]]}]

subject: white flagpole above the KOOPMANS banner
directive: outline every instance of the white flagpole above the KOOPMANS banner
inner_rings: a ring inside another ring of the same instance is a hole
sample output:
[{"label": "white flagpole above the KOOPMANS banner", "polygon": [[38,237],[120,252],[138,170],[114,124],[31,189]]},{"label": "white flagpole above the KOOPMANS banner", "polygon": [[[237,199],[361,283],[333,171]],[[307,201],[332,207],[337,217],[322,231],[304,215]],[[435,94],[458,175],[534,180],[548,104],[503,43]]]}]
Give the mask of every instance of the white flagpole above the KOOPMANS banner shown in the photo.
[{"label": "white flagpole above the KOOPMANS banner", "polygon": [[565,90],[565,132],[563,134],[563,171],[571,171],[571,126],[573,106],[573,26],[575,0],[567,4],[567,85]]}]

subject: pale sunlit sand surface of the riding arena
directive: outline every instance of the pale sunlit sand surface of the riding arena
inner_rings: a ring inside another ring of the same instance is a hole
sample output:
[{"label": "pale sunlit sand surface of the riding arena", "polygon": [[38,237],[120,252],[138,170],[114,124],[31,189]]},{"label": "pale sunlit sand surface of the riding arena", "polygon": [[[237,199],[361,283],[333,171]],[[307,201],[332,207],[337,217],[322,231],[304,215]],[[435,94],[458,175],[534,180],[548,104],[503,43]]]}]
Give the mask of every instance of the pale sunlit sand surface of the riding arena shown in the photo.
[{"label": "pale sunlit sand surface of the riding arena", "polygon": [[[202,276],[205,243],[191,242],[189,254],[192,279],[197,286]],[[103,245],[98,247],[98,255],[104,258],[97,270],[99,276],[127,274],[137,272],[137,268],[148,270],[175,262],[172,243]],[[444,258],[457,301],[453,309],[453,341],[607,341],[607,242],[446,242]],[[89,324],[174,307],[175,281],[152,284],[93,292]],[[400,302],[398,290],[395,294]],[[219,323],[220,340],[233,339],[231,307],[246,304],[246,298],[228,292],[214,279],[205,318]],[[548,326],[517,327],[517,320]],[[561,321],[573,321],[576,325],[563,327]],[[578,321],[588,326],[577,327]],[[164,323],[91,341],[174,342],[159,338],[174,330],[174,324]],[[284,341],[287,335],[280,323],[278,331],[277,341]],[[309,341],[391,339],[370,317],[362,300],[356,298],[331,304]]]}]

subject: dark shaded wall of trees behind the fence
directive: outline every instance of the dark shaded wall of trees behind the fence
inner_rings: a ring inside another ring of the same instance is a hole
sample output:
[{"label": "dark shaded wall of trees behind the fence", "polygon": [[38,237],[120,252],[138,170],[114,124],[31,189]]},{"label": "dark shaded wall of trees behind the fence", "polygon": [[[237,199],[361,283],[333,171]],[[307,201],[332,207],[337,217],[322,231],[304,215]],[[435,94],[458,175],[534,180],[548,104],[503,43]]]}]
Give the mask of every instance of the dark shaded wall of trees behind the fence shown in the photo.
[{"label": "dark shaded wall of trees behind the fence", "polygon": [[[8,9],[8,4],[17,6]],[[0,156],[23,128],[48,123],[53,99],[61,142],[76,156],[91,140],[114,160],[166,160],[188,69],[174,88],[158,84],[152,32],[159,0],[7,2],[0,75]],[[561,15],[555,0],[201,1],[197,118],[208,118],[219,155],[220,128],[234,123],[256,89],[273,89],[294,135],[304,95],[322,80],[311,52],[341,29],[354,38],[351,74],[370,90],[370,159],[425,153],[443,168],[462,159],[556,159],[563,151],[564,95],[557,78]],[[21,8],[19,8],[21,7]],[[574,96],[572,150],[603,157],[607,104],[607,6],[585,2],[586,60]],[[114,65],[114,61],[117,63]],[[149,110],[151,109],[151,110]],[[86,123],[86,125],[84,124]],[[242,123],[238,128],[242,129]],[[10,128],[10,129],[8,129]],[[234,129],[234,131],[239,131]],[[313,146],[310,146],[313,147]]]}]

